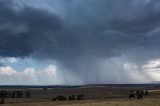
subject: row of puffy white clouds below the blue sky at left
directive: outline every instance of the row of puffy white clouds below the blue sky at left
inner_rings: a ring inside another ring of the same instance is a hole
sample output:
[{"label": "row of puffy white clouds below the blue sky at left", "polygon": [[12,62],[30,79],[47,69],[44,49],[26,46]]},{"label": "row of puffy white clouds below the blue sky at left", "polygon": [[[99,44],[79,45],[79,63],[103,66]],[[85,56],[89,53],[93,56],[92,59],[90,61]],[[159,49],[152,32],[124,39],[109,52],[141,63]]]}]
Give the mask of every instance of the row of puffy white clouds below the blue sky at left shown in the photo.
[{"label": "row of puffy white clouds below the blue sky at left", "polygon": [[0,67],[1,85],[32,85],[32,84],[57,84],[57,68],[49,65],[42,71],[34,68],[26,68],[24,71],[16,71],[10,66]]}]

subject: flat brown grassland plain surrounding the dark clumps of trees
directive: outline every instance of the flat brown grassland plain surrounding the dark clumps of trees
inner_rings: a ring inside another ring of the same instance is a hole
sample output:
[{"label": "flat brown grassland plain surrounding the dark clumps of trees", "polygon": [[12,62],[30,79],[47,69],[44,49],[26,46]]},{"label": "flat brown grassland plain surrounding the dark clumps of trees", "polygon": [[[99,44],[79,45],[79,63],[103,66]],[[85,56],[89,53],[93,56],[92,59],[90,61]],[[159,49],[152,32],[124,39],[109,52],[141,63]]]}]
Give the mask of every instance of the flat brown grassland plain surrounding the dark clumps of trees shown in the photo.
[{"label": "flat brown grassland plain surrounding the dark clumps of trees", "polygon": [[[31,92],[31,98],[7,98],[0,106],[160,106],[160,90],[150,89],[143,100],[128,99],[133,88],[82,87],[52,89],[21,89]],[[10,89],[11,90],[11,89]],[[84,94],[85,100],[52,101],[57,95]]]}]

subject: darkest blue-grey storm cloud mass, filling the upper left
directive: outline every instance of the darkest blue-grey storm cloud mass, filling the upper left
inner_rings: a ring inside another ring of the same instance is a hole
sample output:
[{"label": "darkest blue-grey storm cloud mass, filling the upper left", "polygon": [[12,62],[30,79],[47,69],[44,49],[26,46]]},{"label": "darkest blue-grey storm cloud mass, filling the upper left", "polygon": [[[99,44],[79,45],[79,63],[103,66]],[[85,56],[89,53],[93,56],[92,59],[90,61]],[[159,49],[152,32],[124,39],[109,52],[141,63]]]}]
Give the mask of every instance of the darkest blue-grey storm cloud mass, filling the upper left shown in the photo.
[{"label": "darkest blue-grey storm cloud mass, filling the upper left", "polygon": [[75,46],[74,38],[59,16],[30,7],[16,11],[3,1],[1,5],[0,48],[3,56],[28,56],[41,49],[58,55],[63,52],[61,50]]}]

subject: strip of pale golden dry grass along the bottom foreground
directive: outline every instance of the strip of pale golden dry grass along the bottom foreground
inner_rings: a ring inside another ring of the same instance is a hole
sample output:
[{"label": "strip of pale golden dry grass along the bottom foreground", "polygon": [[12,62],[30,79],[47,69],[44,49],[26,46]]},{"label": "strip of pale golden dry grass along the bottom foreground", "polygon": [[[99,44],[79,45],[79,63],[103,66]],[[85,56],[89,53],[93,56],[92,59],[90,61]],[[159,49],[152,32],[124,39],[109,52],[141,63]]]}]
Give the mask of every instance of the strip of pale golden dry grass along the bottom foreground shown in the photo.
[{"label": "strip of pale golden dry grass along the bottom foreground", "polygon": [[65,102],[34,102],[34,103],[14,103],[2,106],[160,106],[160,99],[128,100],[84,100],[84,101],[65,101]]}]

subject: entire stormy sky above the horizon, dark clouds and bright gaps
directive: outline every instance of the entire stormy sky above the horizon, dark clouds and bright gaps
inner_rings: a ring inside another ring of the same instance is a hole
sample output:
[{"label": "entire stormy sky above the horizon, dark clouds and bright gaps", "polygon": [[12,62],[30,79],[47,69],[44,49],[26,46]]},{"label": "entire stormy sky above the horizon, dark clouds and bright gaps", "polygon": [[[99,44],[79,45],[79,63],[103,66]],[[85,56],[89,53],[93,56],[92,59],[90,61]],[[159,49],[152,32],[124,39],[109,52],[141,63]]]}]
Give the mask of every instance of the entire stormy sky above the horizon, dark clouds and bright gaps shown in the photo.
[{"label": "entire stormy sky above the horizon, dark clouds and bright gaps", "polygon": [[159,0],[0,0],[0,85],[160,82]]}]

